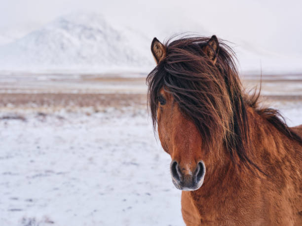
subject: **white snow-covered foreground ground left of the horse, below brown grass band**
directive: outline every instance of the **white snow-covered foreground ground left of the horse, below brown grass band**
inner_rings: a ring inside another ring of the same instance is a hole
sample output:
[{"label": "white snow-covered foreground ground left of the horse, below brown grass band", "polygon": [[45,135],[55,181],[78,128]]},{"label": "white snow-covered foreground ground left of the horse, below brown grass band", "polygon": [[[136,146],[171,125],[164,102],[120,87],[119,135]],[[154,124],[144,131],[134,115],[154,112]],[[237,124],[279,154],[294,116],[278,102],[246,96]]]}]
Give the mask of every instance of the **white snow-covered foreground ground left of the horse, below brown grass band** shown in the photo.
[{"label": "white snow-covered foreground ground left of the horse, below brown grass band", "polygon": [[0,225],[184,225],[146,110],[87,112],[0,120]]}]

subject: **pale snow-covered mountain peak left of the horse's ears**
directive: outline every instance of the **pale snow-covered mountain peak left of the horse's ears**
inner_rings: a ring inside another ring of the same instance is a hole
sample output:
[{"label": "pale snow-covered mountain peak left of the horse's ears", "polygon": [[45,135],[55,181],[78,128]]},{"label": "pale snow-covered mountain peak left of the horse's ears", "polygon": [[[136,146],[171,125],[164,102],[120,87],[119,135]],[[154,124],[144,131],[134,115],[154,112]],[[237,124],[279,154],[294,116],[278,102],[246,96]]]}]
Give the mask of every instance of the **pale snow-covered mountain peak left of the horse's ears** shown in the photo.
[{"label": "pale snow-covered mountain peak left of the horse's ears", "polygon": [[150,42],[139,31],[113,28],[98,14],[70,14],[0,46],[0,70],[146,68],[153,64]]}]

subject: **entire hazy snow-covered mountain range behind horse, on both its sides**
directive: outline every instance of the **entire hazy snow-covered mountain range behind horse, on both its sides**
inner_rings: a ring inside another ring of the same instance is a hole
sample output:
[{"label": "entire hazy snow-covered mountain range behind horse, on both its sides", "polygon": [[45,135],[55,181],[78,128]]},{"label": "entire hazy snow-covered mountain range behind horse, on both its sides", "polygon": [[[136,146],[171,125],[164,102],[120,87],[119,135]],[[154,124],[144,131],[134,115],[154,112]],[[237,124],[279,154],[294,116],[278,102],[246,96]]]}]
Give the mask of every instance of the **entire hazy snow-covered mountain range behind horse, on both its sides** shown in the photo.
[{"label": "entire hazy snow-covered mountain range behind horse, on both its sides", "polygon": [[[150,51],[153,36],[163,40],[186,31],[221,37],[219,33],[209,32],[211,29],[204,24],[189,19],[124,24],[96,13],[73,13],[0,45],[0,71],[148,72],[155,65]],[[268,51],[238,36],[222,38],[236,43],[231,46],[242,73],[302,72],[302,54]],[[2,42],[8,41],[2,37]]]}]

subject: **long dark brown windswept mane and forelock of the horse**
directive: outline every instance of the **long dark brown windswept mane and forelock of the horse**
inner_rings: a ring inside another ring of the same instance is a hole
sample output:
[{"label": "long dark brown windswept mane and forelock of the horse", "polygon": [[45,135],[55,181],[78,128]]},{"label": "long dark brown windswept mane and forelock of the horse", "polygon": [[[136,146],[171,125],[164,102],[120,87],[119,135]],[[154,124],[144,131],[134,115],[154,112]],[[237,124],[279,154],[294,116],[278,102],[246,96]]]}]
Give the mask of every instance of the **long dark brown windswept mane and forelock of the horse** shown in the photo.
[{"label": "long dark brown windswept mane and forelock of the horse", "polygon": [[[257,108],[258,97],[244,94],[234,53],[222,40],[215,65],[202,51],[208,37],[185,37],[165,43],[166,57],[150,72],[148,103],[154,129],[158,94],[164,88],[173,95],[181,112],[199,130],[204,150],[217,149],[219,141],[231,159],[254,165],[247,155],[250,125],[247,107],[253,107],[275,128],[302,144],[302,138],[280,118],[278,111]],[[259,169],[259,168],[258,168]]]}]

